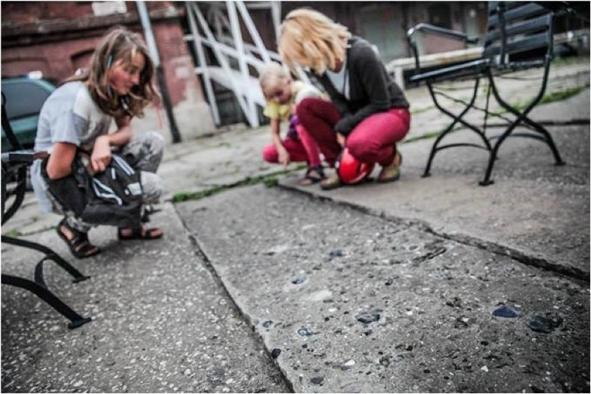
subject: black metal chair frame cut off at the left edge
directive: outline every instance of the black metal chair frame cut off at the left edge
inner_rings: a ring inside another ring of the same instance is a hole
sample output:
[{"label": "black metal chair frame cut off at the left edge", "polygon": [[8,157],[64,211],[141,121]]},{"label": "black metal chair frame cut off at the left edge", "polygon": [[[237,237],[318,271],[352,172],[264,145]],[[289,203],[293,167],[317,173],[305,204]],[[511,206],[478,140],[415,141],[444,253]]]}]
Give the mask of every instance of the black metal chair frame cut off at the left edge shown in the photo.
[{"label": "black metal chair frame cut off at the left edge", "polygon": [[[4,107],[5,97],[2,94],[2,128],[6,133],[6,137],[15,151],[10,151],[7,153],[2,153],[2,224],[6,223],[8,219],[10,219],[21,207],[24,194],[26,192],[26,173],[27,168],[33,163],[35,160],[36,155],[33,154],[33,151],[23,151],[19,144],[18,139],[16,138],[14,132],[12,132],[12,128],[10,127],[10,123],[8,122],[8,117],[6,115],[6,108]],[[8,198],[8,193],[6,190],[6,178],[8,173],[16,173],[16,182],[17,185],[12,192],[14,194],[15,199],[12,201],[12,204],[8,209],[5,210],[6,199]],[[35,265],[35,279],[28,280],[23,277],[17,277],[15,275],[8,275],[8,274],[1,274],[1,283],[2,284],[9,284],[11,286],[17,286],[22,289],[26,289],[35,293],[39,298],[47,302],[53,309],[58,311],[62,316],[70,320],[68,324],[68,328],[74,329],[76,327],[80,327],[85,323],[88,323],[92,320],[92,318],[84,317],[78,314],[78,312],[71,309],[65,302],[60,300],[57,295],[55,295],[49,288],[47,287],[44,276],[43,276],[43,263],[46,260],[51,260],[58,264],[58,266],[62,267],[69,273],[72,277],[74,277],[73,282],[82,282],[83,280],[87,280],[89,277],[83,275],[78,271],[74,266],[69,264],[62,259],[60,255],[56,252],[47,248],[46,246],[40,245],[39,243],[35,243],[32,241],[26,241],[24,239],[17,239],[15,237],[8,237],[6,235],[2,235],[1,242],[9,243],[10,245],[20,246],[23,248],[30,248],[33,250],[37,250],[44,254],[44,257],[37,262]]]}]

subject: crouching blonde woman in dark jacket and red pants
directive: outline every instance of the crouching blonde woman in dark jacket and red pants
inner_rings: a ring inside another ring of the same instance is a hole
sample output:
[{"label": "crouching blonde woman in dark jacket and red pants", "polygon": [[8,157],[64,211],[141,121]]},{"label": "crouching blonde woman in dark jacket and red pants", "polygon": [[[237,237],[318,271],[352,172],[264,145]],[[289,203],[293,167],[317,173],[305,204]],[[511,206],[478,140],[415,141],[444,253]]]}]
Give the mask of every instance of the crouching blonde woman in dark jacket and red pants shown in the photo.
[{"label": "crouching blonde woman in dark jacket and red pants", "polygon": [[[378,182],[397,180],[396,143],[410,128],[409,103],[373,46],[322,13],[300,8],[281,25],[279,52],[291,69],[309,67],[330,96],[332,103],[305,99],[297,111],[327,161],[334,163],[346,146],[360,162],[382,166]],[[340,186],[336,174],[320,182],[323,189]]]}]

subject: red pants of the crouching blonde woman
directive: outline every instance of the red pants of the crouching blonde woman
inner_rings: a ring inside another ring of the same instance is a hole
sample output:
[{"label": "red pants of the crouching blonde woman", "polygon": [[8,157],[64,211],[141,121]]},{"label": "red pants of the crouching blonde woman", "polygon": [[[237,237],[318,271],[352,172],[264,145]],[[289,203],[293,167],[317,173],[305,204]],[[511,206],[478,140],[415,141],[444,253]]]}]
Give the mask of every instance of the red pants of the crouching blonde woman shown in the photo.
[{"label": "red pants of the crouching blonde woman", "polygon": [[[333,166],[341,146],[336,142],[334,125],[341,119],[333,103],[321,99],[304,99],[298,105],[300,123],[318,143],[327,162]],[[363,163],[390,164],[394,144],[406,136],[411,127],[411,114],[406,108],[391,108],[363,119],[348,135],[349,152]]]}]

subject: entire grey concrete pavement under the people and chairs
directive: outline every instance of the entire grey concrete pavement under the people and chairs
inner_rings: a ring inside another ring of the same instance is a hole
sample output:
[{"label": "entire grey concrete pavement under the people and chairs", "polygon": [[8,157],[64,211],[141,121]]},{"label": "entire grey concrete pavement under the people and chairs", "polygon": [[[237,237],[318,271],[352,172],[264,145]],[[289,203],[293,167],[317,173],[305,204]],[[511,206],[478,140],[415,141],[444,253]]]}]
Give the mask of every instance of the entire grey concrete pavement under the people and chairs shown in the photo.
[{"label": "entire grey concrete pavement under the people and chairs", "polygon": [[[517,77],[502,87],[523,102],[536,81]],[[413,139],[447,121],[422,88],[408,92],[412,142],[391,185],[325,192],[298,187],[299,171],[276,189],[231,187],[279,170],[260,159],[267,128],[169,146],[167,198],[227,189],[164,203],[161,241],[93,230],[108,250],[74,262],[89,281],[48,270],[93,316],[79,329],[3,286],[2,390],[588,391],[588,86],[588,59],[554,67],[549,93],[583,90],[532,114],[554,123],[567,165],[511,139],[490,187],[477,185],[486,155],[471,148],[438,153],[420,178],[432,139]],[[28,196],[2,232],[69,258],[55,223]],[[2,271],[30,276],[32,255],[3,245]],[[493,318],[502,305],[520,316]],[[531,328],[540,318],[550,334]]]}]

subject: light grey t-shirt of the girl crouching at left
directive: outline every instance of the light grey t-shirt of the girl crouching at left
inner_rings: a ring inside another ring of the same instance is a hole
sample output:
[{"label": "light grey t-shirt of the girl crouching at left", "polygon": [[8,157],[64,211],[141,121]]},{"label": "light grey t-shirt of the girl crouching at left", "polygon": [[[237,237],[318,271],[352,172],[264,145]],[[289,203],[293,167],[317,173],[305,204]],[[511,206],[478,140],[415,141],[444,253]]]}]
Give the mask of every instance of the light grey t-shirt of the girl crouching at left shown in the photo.
[{"label": "light grey t-shirt of the girl crouching at left", "polygon": [[[55,89],[41,108],[35,152],[51,154],[56,142],[90,151],[96,137],[108,134],[111,122],[112,117],[96,105],[84,83],[65,83]],[[52,204],[41,176],[41,160],[35,160],[31,166],[31,184],[43,210],[51,212]]]}]

